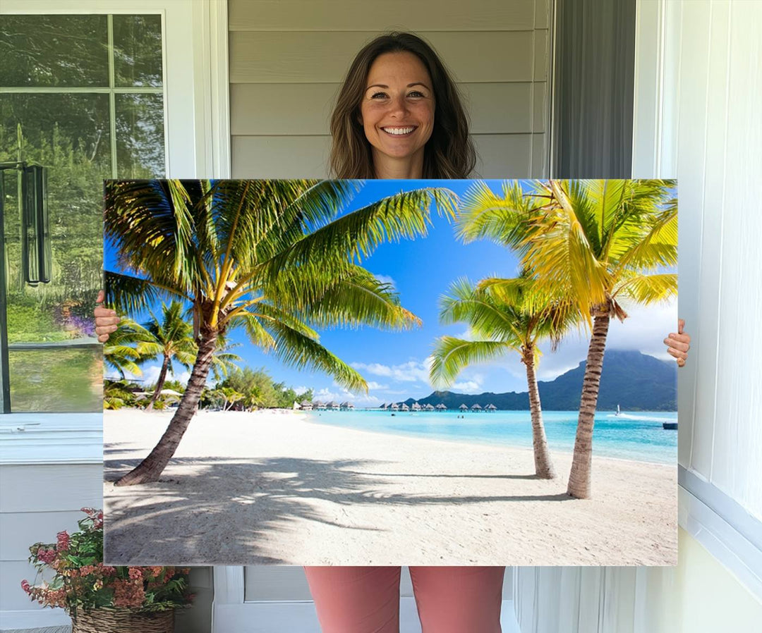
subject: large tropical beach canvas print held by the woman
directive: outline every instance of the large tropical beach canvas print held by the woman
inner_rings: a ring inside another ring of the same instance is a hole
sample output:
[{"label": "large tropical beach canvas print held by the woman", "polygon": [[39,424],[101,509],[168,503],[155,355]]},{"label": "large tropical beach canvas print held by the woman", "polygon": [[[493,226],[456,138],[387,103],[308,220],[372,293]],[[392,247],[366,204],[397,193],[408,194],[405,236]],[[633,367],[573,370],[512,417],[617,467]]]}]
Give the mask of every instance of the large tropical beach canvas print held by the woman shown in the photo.
[{"label": "large tropical beach canvas print held by the woman", "polygon": [[675,181],[106,181],[108,564],[677,564]]}]

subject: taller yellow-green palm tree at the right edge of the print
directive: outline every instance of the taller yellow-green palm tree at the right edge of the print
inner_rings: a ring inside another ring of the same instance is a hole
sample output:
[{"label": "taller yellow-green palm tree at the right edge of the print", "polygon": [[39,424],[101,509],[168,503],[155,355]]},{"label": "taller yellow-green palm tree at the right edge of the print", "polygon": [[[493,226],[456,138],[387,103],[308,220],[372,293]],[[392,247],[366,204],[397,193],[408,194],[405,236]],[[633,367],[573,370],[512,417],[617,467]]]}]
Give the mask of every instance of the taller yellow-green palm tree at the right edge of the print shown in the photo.
[{"label": "taller yellow-green palm tree at the right edge of the print", "polygon": [[[567,492],[591,496],[592,436],[600,373],[612,316],[623,301],[647,305],[677,293],[677,200],[674,181],[549,181],[535,184],[523,210],[491,213],[475,207],[485,235],[506,222],[507,242],[545,288],[568,296],[592,335]],[[529,201],[533,200],[530,205]],[[527,219],[528,217],[528,219]],[[520,219],[520,221],[517,221]],[[512,220],[512,223],[511,223]]]}]

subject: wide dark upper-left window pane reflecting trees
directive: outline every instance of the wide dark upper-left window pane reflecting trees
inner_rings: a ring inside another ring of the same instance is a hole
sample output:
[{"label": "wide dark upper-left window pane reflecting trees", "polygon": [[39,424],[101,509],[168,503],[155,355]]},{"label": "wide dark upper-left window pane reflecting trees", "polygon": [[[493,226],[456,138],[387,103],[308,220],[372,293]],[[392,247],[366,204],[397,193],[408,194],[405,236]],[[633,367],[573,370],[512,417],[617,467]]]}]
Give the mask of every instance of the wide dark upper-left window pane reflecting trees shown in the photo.
[{"label": "wide dark upper-left window pane reflecting trees", "polygon": [[3,15],[0,85],[108,86],[105,15]]}]

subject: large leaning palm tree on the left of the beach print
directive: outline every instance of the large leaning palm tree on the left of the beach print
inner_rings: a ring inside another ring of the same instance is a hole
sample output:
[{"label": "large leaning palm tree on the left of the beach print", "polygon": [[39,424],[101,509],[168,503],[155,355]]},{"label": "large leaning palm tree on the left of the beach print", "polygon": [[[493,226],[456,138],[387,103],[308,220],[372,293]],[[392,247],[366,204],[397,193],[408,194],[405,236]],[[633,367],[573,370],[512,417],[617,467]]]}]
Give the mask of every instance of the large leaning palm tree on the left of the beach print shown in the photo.
[{"label": "large leaning palm tree on the left of the beach print", "polygon": [[158,293],[192,306],[197,358],[158,444],[117,484],[156,481],[197,408],[219,334],[243,327],[284,363],[367,389],[319,342],[314,327],[420,323],[392,289],[359,265],[386,240],[425,235],[430,207],[453,214],[454,194],[398,193],[352,213],[352,181],[121,181],[106,187],[105,233],[130,275],[107,295],[136,309]]}]

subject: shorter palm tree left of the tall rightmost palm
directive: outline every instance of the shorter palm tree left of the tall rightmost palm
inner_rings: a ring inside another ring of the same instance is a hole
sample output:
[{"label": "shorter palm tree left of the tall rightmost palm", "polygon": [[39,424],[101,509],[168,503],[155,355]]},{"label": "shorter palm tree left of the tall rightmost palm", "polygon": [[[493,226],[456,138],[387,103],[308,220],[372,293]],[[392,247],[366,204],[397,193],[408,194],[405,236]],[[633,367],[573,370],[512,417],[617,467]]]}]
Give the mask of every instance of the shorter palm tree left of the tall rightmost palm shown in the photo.
[{"label": "shorter palm tree left of the tall rightmost palm", "polygon": [[571,305],[543,292],[536,280],[524,273],[511,280],[488,279],[479,286],[467,280],[453,283],[442,298],[440,321],[465,321],[477,340],[440,337],[431,363],[432,382],[450,384],[472,363],[492,360],[506,353],[520,353],[527,370],[535,474],[555,478],[543,425],[543,408],[537,388],[536,366],[539,340],[551,341],[555,350],[562,334],[571,327]]}]

